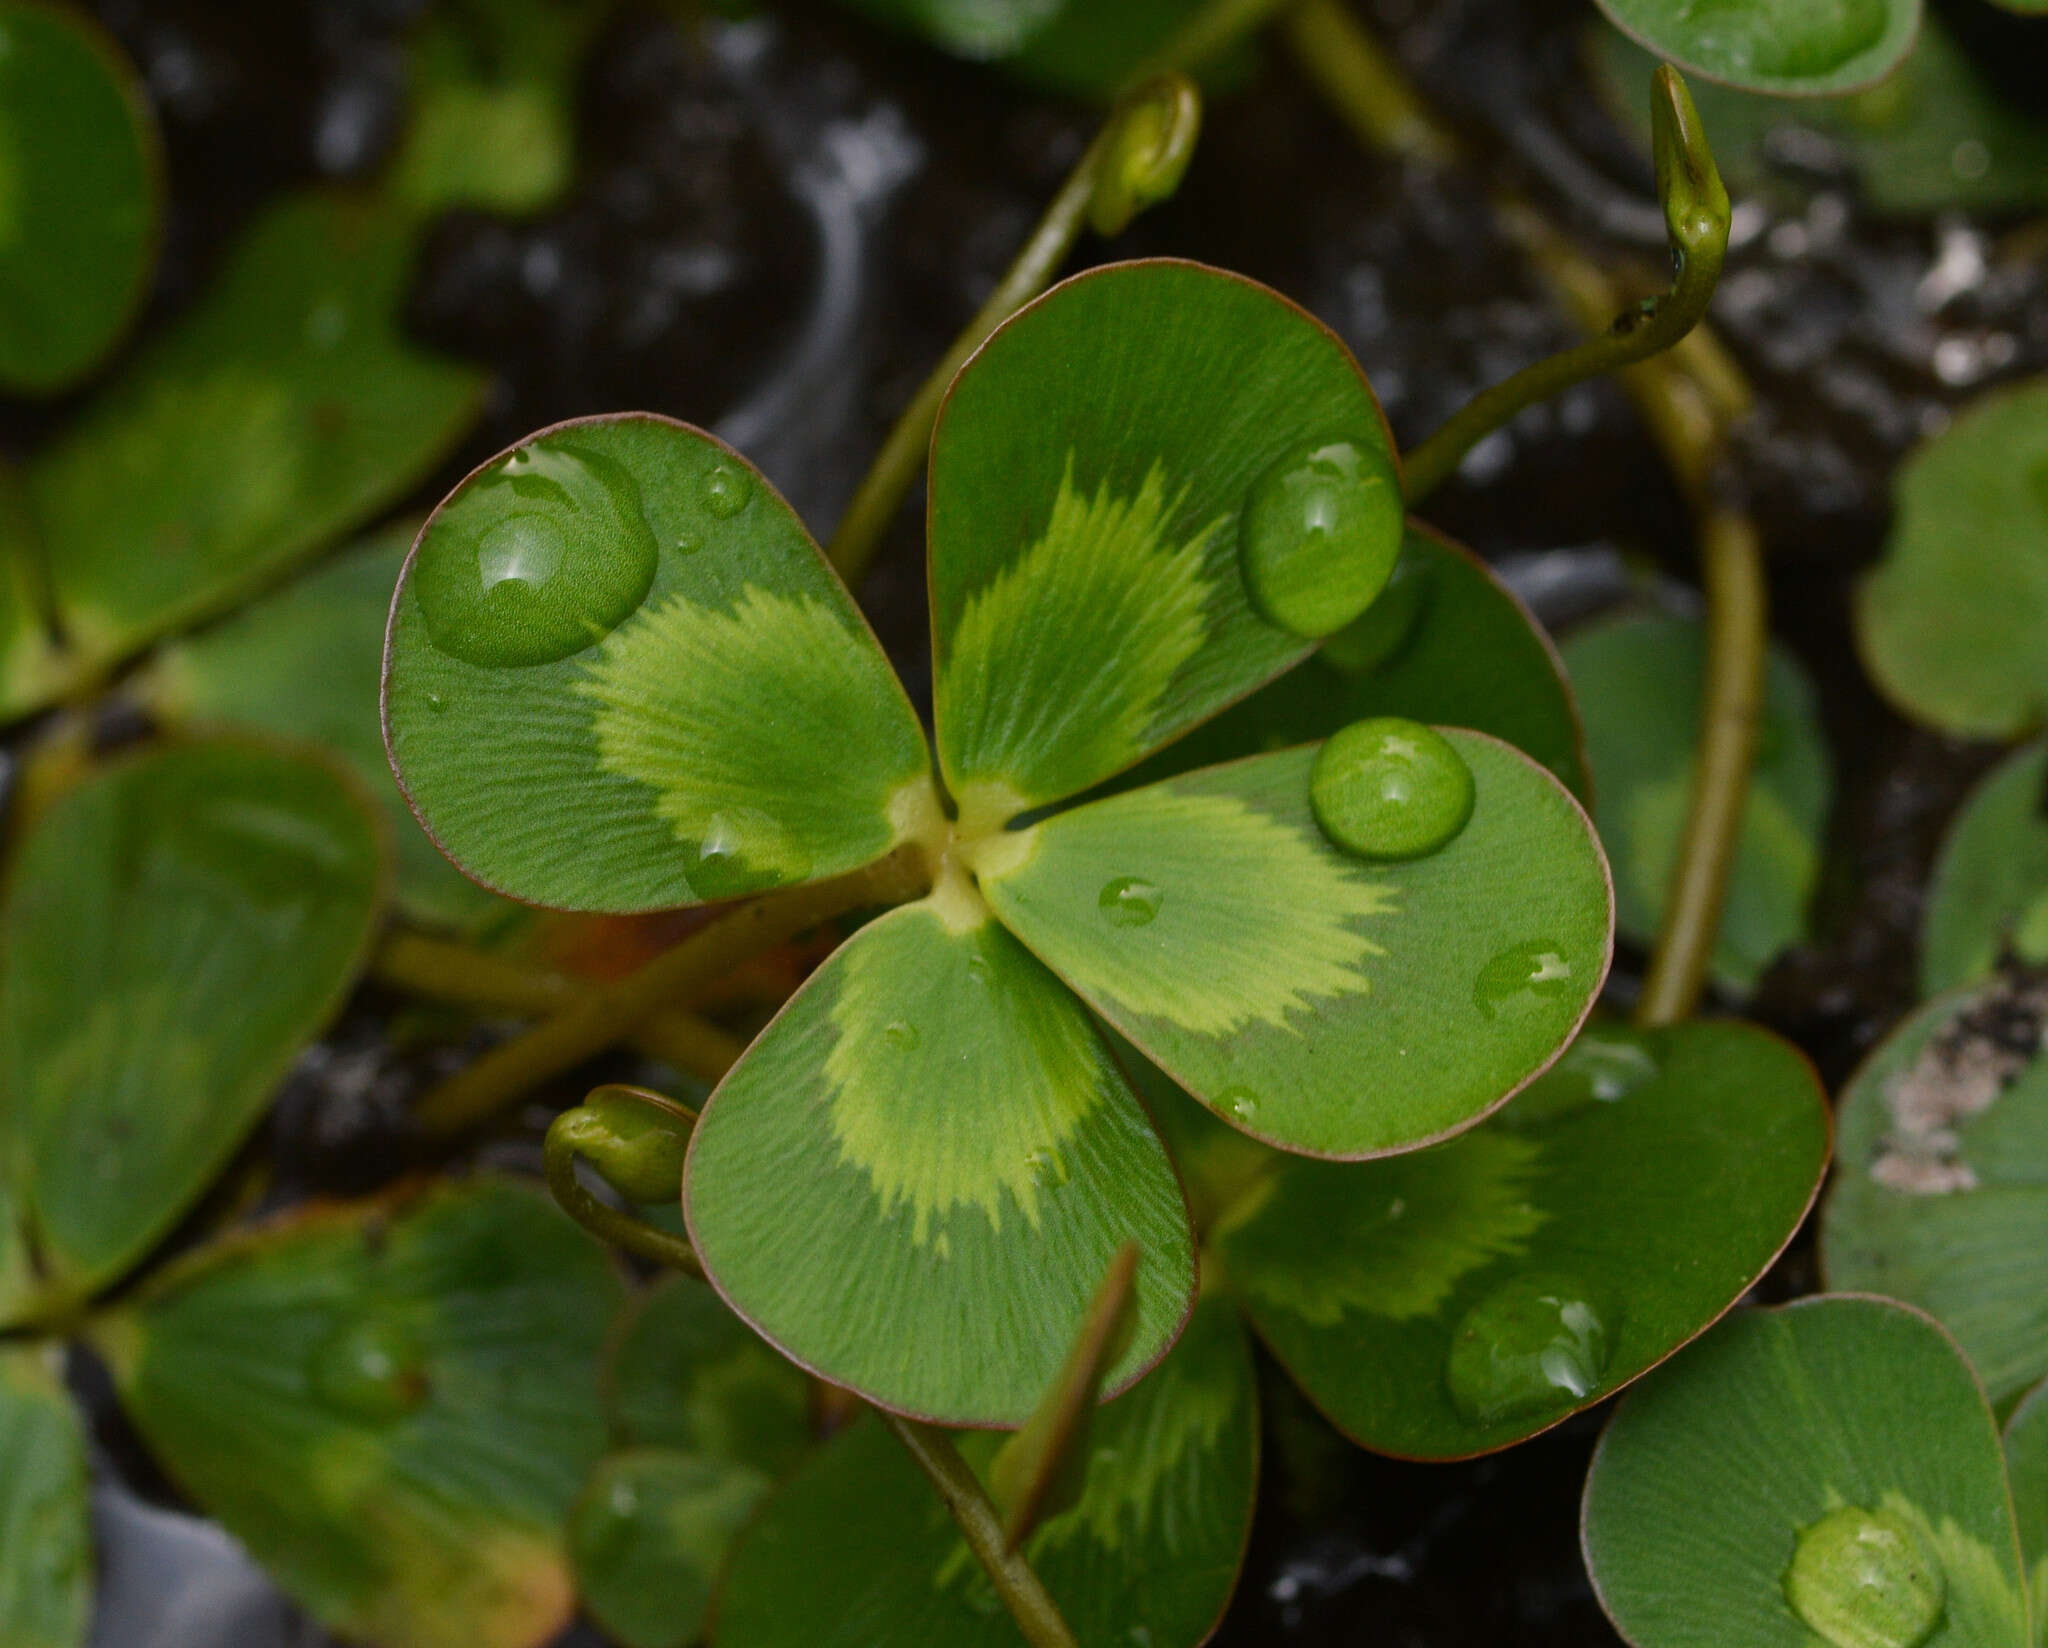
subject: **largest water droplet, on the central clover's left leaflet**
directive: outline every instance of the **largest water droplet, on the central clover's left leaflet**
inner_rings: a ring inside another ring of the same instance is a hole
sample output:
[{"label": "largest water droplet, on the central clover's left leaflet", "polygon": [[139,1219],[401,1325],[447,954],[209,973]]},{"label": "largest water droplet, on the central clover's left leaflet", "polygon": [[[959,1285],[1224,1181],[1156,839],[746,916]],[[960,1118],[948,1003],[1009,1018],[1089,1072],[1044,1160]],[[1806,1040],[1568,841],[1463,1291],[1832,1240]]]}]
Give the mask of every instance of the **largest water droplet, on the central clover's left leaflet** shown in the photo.
[{"label": "largest water droplet, on the central clover's left leaflet", "polygon": [[633,475],[571,434],[520,446],[457,491],[428,526],[412,586],[440,651],[522,667],[618,628],[655,561]]}]

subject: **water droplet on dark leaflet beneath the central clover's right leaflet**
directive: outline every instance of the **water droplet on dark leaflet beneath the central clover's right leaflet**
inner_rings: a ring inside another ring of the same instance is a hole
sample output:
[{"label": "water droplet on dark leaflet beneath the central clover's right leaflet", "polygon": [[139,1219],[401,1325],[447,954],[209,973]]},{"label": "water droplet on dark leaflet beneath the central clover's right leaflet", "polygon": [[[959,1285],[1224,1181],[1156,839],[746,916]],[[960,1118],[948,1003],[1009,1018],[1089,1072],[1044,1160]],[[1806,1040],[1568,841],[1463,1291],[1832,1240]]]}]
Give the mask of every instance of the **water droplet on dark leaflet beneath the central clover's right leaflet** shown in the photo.
[{"label": "water droplet on dark leaflet beneath the central clover's right leaflet", "polygon": [[1612,1333],[1569,1275],[1520,1275],[1464,1312],[1450,1335],[1444,1384],[1470,1425],[1563,1408],[1599,1388]]}]

